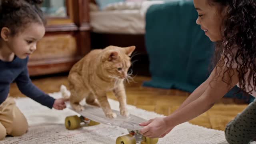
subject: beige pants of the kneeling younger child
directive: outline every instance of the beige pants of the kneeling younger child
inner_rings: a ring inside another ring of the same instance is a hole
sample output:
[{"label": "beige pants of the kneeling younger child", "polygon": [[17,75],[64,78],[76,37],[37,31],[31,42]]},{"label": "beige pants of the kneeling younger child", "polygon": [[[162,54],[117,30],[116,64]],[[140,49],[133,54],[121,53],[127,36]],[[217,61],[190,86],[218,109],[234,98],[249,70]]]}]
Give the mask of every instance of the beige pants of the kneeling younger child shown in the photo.
[{"label": "beige pants of the kneeling younger child", "polygon": [[21,136],[28,131],[28,122],[16,106],[14,98],[8,98],[0,104],[0,140],[6,135]]}]

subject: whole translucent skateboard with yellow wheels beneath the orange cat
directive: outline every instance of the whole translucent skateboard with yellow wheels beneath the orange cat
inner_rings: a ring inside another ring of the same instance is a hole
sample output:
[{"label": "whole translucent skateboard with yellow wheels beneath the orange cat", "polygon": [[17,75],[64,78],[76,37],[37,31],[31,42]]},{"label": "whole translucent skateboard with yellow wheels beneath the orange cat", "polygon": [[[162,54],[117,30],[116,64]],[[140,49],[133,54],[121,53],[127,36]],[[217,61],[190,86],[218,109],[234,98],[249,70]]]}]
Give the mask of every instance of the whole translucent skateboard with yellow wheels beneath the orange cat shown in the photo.
[{"label": "whole translucent skateboard with yellow wheels beneath the orange cat", "polygon": [[[66,106],[73,110],[69,102],[66,102]],[[156,144],[158,142],[158,138],[147,138],[140,134],[139,131],[142,127],[139,126],[139,123],[146,121],[145,119],[132,114],[128,117],[124,117],[120,115],[119,111],[112,111],[116,113],[116,118],[107,118],[102,108],[86,105],[83,111],[77,112],[80,116],[74,115],[66,117],[65,127],[68,130],[74,130],[82,126],[94,126],[102,123],[128,130],[129,134],[116,138],[116,144]]]}]

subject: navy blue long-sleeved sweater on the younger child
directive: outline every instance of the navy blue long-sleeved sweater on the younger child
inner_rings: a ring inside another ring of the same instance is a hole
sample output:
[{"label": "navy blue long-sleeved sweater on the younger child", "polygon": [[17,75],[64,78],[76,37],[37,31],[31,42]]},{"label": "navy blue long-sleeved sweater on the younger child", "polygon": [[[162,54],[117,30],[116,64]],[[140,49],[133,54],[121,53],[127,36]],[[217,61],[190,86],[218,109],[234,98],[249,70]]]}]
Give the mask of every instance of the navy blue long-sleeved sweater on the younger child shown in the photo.
[{"label": "navy blue long-sleeved sweater on the younger child", "polygon": [[38,89],[28,75],[28,57],[20,59],[15,56],[12,62],[0,60],[0,104],[6,100],[10,91],[10,84],[16,82],[19,90],[36,102],[52,108],[55,99]]}]

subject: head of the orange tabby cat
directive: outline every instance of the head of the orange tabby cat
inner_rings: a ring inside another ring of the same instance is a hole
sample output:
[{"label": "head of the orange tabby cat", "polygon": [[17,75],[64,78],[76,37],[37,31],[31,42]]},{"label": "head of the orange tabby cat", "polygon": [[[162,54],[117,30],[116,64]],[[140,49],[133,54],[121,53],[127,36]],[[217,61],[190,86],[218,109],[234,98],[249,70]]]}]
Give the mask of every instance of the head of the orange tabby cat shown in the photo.
[{"label": "head of the orange tabby cat", "polygon": [[102,54],[103,74],[110,78],[124,79],[131,66],[130,55],[135,50],[135,46],[121,48],[108,46]]}]

